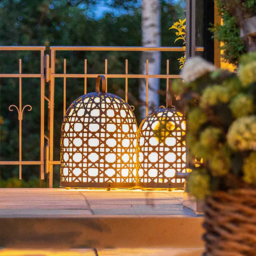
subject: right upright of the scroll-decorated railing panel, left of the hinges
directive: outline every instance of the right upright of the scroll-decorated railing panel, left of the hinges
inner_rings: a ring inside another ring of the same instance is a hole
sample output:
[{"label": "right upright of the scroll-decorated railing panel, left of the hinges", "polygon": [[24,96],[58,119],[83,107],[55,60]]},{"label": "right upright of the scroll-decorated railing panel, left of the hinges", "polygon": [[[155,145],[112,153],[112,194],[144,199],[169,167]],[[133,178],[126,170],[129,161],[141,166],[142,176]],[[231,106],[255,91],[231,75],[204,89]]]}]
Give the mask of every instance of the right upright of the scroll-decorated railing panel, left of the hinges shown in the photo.
[{"label": "right upright of the scroll-decorated railing panel, left of the hinges", "polygon": [[45,77],[44,77],[44,50],[41,53],[41,131],[40,131],[40,186],[42,186],[42,180],[44,180],[44,94],[45,94]]}]

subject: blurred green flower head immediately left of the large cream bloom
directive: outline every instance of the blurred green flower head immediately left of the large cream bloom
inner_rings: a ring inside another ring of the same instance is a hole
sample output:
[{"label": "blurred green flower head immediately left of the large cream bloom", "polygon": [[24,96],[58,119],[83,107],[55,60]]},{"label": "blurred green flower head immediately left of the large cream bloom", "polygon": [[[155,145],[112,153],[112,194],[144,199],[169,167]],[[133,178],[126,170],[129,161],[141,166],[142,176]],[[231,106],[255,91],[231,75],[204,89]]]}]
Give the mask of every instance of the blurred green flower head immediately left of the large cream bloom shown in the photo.
[{"label": "blurred green flower head immediately left of the large cream bloom", "polygon": [[200,143],[206,148],[214,148],[218,145],[222,130],[216,127],[208,127],[200,134]]}]

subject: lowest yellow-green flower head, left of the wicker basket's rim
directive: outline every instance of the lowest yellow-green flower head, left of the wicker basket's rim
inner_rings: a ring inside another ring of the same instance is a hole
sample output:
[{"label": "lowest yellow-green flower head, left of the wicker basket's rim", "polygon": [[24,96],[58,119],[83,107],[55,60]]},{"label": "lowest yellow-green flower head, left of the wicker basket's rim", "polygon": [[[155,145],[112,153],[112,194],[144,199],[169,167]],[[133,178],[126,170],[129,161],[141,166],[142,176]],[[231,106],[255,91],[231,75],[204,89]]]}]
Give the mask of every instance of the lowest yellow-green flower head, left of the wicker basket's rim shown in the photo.
[{"label": "lowest yellow-green flower head, left of the wicker basket's rim", "polygon": [[210,177],[205,170],[193,170],[187,181],[188,191],[198,199],[210,194]]}]

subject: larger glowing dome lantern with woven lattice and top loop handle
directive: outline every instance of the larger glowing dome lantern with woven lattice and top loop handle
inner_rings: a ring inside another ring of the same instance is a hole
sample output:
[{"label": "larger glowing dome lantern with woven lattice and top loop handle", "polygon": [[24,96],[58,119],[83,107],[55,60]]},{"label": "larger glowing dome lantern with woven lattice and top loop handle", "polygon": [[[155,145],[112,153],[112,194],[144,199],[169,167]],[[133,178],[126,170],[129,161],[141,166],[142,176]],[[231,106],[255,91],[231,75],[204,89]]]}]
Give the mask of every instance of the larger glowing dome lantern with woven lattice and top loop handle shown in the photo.
[{"label": "larger glowing dome lantern with woven lattice and top loop handle", "polygon": [[63,118],[60,186],[136,185],[136,135],[131,107],[107,93],[105,77],[98,76],[96,92],[76,99]]}]

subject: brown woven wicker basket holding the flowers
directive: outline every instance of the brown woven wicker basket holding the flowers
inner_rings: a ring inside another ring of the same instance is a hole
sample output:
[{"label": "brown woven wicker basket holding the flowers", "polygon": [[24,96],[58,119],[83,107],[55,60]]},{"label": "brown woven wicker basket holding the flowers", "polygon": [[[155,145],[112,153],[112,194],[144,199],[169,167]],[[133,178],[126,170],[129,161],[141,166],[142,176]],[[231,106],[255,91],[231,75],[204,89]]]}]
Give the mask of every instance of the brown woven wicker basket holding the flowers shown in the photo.
[{"label": "brown woven wicker basket holding the flowers", "polygon": [[204,210],[204,256],[256,255],[256,190],[217,191]]}]

